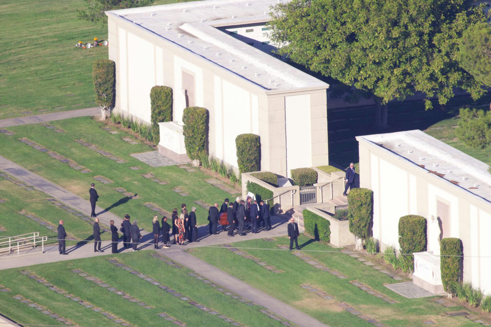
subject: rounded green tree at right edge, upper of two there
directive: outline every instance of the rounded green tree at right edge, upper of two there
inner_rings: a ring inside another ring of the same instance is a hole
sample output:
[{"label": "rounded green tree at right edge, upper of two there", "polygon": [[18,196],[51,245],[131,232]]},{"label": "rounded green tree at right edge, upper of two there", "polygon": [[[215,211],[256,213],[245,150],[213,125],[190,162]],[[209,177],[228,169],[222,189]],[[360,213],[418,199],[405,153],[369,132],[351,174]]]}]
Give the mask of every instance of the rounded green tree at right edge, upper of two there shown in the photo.
[{"label": "rounded green tree at right edge, upper of two there", "polygon": [[[459,44],[462,67],[486,86],[491,86],[491,25],[469,26]],[[490,104],[491,109],[491,104]]]}]

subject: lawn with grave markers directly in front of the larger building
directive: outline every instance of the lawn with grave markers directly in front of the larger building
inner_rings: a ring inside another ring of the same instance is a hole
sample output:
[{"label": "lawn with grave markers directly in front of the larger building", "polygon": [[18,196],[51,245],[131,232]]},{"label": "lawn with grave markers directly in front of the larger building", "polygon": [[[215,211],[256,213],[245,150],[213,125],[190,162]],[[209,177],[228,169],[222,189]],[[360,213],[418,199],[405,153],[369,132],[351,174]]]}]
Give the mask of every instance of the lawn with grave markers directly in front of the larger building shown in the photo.
[{"label": "lawn with grave markers directly in front of the larger building", "polygon": [[[0,142],[5,145],[3,148],[5,150],[1,151],[1,155],[85,199],[89,197],[90,183],[95,183],[100,196],[97,202],[99,206],[109,208],[110,212],[120,217],[126,213],[129,214],[132,220],[138,220],[138,225],[146,230],[152,229],[152,218],[155,214],[155,211],[144,206],[146,203],[153,203],[167,212],[172,212],[173,208],[180,209],[181,203],[187,203],[188,210],[191,210],[192,206],[196,206],[196,217],[198,224],[201,225],[208,223],[208,212],[193,201],[215,203],[233,197],[205,182],[204,180],[211,177],[199,170],[187,172],[177,166],[154,168],[137,160],[130,154],[153,151],[153,149],[143,143],[132,145],[123,141],[122,138],[124,137],[132,137],[133,139],[134,137],[122,130],[119,130],[119,134],[110,134],[101,129],[104,127],[104,123],[92,120],[90,117],[55,121],[53,126],[66,132],[56,133],[54,130],[39,124],[9,127],[9,130],[16,134],[0,135]],[[91,172],[82,174],[80,171],[69,167],[68,164],[63,164],[50,157],[47,153],[37,151],[19,142],[18,139],[22,138],[27,138],[74,160]],[[110,151],[116,157],[125,160],[126,163],[117,163],[109,157],[75,142],[75,140],[80,139],[97,146],[99,149]],[[133,166],[137,166],[141,170],[130,169]],[[152,173],[168,184],[161,185],[141,176],[141,174],[147,173]],[[103,176],[113,182],[103,184],[94,179],[96,176]],[[172,191],[176,187],[189,193],[189,196],[181,196]],[[127,192],[137,194],[138,199],[130,200],[114,188],[123,188]]]}]

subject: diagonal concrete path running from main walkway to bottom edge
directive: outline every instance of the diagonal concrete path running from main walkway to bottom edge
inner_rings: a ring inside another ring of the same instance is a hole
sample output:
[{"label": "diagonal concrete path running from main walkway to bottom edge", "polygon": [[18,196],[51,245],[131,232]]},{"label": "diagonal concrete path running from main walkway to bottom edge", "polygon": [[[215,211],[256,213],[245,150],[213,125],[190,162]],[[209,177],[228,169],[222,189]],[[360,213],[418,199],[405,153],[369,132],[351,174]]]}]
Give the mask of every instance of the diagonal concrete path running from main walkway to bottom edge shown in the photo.
[{"label": "diagonal concrete path running from main walkway to bottom edge", "polygon": [[[286,229],[286,228],[282,228]],[[317,319],[310,317],[309,315],[295,309],[294,307],[281,302],[272,296],[250,286],[242,280],[235,278],[221,270],[214,267],[201,259],[192,256],[184,251],[166,251],[166,249],[159,250],[163,255],[169,257],[173,261],[186,266],[194,270],[199,275],[206,277],[207,279],[225,286],[232,292],[239,294],[240,296],[250,300],[256,304],[266,307],[268,310],[274,312],[279,316],[282,316],[286,320],[294,323],[300,327],[328,327],[326,324],[321,323]],[[288,279],[287,279],[288,280]],[[287,282],[286,280],[286,282]]]}]

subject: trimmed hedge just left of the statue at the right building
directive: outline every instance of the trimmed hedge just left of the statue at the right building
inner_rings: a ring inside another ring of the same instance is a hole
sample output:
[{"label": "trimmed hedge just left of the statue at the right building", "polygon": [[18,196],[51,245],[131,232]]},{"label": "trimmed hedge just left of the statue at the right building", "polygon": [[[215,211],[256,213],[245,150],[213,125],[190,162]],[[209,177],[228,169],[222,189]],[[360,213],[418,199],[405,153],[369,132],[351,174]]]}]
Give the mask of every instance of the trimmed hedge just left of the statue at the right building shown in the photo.
[{"label": "trimmed hedge just left of the statue at the right building", "polygon": [[401,253],[402,270],[414,270],[413,252],[426,251],[426,219],[418,215],[407,215],[399,219],[399,247]]}]

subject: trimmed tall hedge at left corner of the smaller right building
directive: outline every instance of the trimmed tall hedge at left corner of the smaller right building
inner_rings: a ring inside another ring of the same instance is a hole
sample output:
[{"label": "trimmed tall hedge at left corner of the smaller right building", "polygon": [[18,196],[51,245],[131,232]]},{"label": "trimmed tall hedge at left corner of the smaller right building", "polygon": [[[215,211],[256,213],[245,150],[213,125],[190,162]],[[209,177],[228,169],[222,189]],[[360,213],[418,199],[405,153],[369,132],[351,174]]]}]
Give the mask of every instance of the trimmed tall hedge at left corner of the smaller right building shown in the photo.
[{"label": "trimmed tall hedge at left corner of the smaller right building", "polygon": [[348,210],[350,212],[350,231],[357,238],[366,239],[373,215],[373,191],[366,188],[350,190]]}]

